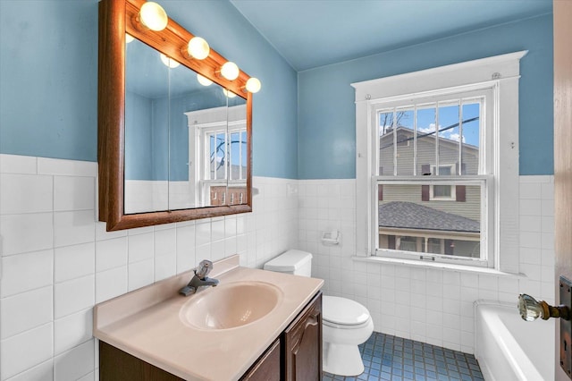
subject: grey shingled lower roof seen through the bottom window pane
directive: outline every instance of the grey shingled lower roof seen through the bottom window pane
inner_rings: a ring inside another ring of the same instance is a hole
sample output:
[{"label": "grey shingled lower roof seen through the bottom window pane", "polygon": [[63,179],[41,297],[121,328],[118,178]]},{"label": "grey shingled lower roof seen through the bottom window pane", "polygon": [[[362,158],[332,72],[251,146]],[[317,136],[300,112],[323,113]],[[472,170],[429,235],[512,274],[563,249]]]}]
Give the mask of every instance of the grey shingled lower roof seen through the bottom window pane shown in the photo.
[{"label": "grey shingled lower roof seen through the bottom window pane", "polygon": [[467,233],[481,231],[478,221],[406,201],[380,205],[379,226]]}]

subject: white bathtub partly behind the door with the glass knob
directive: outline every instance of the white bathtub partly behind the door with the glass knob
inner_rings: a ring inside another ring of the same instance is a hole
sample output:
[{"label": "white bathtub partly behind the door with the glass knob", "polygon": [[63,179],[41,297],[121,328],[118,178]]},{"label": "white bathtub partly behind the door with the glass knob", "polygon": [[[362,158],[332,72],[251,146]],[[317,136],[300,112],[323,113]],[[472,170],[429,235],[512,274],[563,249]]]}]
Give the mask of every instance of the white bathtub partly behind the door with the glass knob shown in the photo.
[{"label": "white bathtub partly behind the door with the glass knob", "polygon": [[526,322],[514,305],[475,301],[475,357],[487,381],[554,379],[556,319]]}]

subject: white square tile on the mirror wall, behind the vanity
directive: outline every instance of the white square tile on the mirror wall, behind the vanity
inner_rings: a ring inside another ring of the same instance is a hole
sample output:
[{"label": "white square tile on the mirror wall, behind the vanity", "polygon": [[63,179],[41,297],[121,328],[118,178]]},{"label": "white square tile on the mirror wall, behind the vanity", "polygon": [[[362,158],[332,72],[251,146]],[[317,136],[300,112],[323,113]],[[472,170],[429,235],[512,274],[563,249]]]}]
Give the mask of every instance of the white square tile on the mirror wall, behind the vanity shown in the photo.
[{"label": "white square tile on the mirror wall, behind the vanity", "polygon": [[0,155],[0,380],[93,380],[92,308],[240,254],[265,261],[298,244],[297,181],[255,177],[254,212],[105,232],[97,164]]}]

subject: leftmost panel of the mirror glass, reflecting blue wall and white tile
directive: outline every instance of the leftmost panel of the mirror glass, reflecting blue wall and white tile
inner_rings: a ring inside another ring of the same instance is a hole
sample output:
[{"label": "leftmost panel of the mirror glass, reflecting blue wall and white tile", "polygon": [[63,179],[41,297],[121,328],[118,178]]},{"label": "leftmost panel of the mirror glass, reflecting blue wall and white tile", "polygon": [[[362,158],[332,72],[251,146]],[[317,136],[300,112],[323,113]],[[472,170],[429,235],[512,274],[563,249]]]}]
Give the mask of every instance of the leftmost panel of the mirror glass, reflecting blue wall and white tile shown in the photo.
[{"label": "leftmost panel of the mirror glass, reflecting blue wall and white tile", "polygon": [[125,45],[125,214],[168,208],[169,68],[152,47]]}]

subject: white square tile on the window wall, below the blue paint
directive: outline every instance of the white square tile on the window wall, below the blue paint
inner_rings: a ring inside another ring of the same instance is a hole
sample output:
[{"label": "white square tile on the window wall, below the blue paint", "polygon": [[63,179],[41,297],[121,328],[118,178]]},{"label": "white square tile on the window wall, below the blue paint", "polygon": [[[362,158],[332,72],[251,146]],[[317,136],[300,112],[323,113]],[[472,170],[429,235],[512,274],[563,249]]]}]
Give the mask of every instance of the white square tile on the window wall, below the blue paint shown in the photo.
[{"label": "white square tile on the window wall, below the blue paint", "polygon": [[[553,176],[521,176],[519,185],[520,279],[352,260],[353,180],[299,182],[299,249],[314,253],[324,293],[362,302],[376,331],[472,353],[474,301],[516,302],[520,292],[555,299]],[[341,244],[324,245],[320,234],[334,228]]]}]

